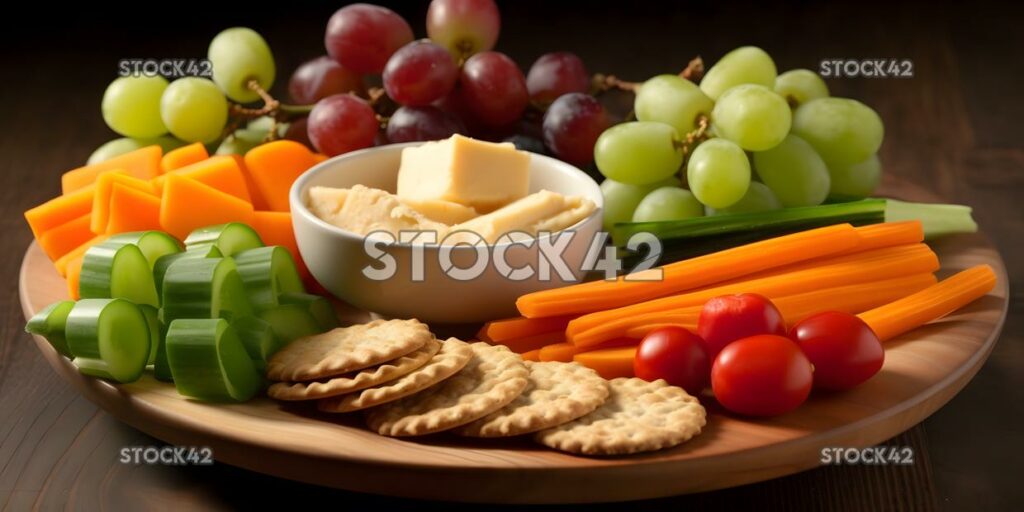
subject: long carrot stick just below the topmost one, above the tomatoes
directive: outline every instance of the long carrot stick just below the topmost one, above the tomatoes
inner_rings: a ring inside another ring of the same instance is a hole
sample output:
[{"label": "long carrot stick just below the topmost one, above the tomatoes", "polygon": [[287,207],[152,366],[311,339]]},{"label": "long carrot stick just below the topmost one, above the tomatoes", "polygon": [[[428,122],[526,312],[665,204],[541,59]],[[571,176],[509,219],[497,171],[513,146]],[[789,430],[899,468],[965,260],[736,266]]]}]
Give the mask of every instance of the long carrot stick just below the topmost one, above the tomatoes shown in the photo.
[{"label": "long carrot stick just below the topmost one, above the tomatoes", "polygon": [[732,281],[712,288],[585,314],[569,322],[565,332],[570,340],[575,340],[578,335],[587,331],[610,329],[614,321],[642,313],[702,305],[721,295],[757,293],[767,297],[780,297],[821,288],[880,281],[919,272],[934,272],[939,269],[938,258],[925,244],[874,249],[852,256],[855,257],[840,256],[792,272]]}]

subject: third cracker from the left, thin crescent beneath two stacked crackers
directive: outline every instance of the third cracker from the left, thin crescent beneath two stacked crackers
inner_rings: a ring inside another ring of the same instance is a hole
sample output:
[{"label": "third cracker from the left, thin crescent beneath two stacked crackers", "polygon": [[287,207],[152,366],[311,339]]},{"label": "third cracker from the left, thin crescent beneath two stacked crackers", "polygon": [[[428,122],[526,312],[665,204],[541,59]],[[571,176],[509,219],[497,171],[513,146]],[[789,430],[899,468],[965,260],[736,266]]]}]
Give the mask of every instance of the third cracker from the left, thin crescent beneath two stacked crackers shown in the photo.
[{"label": "third cracker from the left, thin crescent beneath two stacked crackers", "polygon": [[473,357],[469,344],[450,338],[426,365],[379,386],[316,401],[325,413],[350,413],[404,398],[452,377]]}]

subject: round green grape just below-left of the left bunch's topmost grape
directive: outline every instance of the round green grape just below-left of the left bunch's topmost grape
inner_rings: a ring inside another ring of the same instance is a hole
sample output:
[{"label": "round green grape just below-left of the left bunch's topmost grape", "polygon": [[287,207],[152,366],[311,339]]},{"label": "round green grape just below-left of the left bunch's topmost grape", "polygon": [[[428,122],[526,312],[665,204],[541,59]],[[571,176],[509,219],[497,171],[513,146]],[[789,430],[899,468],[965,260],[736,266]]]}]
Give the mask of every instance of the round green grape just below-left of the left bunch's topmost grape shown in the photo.
[{"label": "round green grape just below-left of the left bunch's topmost grape", "polygon": [[175,137],[186,142],[212,142],[227,124],[227,98],[205,78],[179,78],[160,98],[160,115]]}]

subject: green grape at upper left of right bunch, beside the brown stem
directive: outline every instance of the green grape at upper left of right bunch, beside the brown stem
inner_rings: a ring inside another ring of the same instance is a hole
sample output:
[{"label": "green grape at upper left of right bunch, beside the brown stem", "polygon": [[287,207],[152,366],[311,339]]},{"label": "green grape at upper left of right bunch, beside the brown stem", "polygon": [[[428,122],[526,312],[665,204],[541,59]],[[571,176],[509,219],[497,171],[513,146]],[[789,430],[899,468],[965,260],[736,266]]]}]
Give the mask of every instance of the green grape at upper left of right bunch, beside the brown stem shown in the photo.
[{"label": "green grape at upper left of right bunch, beside the brown stem", "polygon": [[676,75],[658,75],[637,91],[633,111],[639,121],[672,125],[680,135],[697,127],[697,118],[711,116],[715,103],[693,82]]}]

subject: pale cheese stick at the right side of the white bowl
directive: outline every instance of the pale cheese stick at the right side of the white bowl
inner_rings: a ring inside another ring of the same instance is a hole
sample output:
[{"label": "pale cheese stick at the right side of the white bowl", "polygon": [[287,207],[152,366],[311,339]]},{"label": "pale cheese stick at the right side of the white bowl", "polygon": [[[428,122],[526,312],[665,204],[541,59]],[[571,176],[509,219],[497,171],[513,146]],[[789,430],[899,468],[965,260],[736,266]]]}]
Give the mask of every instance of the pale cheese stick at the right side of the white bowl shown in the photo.
[{"label": "pale cheese stick at the right side of the white bowl", "polygon": [[560,231],[586,218],[594,208],[594,202],[587,198],[541,190],[488,214],[452,226],[452,236],[444,243],[474,241],[474,237],[470,234],[456,232],[459,230],[475,232],[488,244],[498,242],[503,234],[512,231],[523,231],[529,236],[537,236],[542,231]]}]

